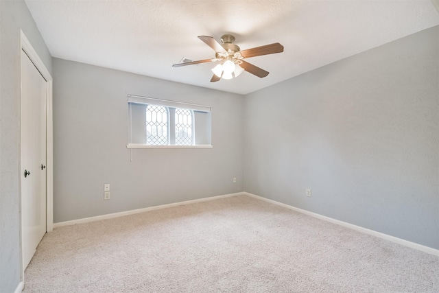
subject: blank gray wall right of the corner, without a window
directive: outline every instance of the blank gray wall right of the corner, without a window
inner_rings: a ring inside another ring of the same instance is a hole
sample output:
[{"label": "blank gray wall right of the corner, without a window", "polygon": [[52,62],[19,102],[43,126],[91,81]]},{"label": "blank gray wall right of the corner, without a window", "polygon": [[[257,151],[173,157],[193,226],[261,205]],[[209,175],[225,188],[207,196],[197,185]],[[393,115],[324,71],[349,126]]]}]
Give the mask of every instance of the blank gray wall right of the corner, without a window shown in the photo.
[{"label": "blank gray wall right of the corner, without a window", "polygon": [[248,95],[244,190],[439,249],[438,39],[434,27]]}]

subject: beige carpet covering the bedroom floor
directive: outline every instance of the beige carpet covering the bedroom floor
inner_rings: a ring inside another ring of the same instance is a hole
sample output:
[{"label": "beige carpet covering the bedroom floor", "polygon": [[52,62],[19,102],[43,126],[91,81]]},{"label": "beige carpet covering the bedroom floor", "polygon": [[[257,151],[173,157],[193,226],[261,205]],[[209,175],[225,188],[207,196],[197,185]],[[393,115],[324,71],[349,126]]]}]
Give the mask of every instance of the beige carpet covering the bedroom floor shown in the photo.
[{"label": "beige carpet covering the bedroom floor", "polygon": [[24,292],[439,292],[439,257],[235,196],[56,228]]}]

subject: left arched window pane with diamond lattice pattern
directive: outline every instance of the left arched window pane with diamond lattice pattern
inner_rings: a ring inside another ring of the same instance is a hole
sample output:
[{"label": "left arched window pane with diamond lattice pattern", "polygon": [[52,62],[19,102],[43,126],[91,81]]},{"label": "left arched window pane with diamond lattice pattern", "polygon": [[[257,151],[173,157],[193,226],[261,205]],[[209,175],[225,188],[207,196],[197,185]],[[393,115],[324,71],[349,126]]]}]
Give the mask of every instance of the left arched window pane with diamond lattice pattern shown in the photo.
[{"label": "left arched window pane with diamond lattice pattern", "polygon": [[148,105],[146,108],[146,144],[167,145],[167,108]]}]

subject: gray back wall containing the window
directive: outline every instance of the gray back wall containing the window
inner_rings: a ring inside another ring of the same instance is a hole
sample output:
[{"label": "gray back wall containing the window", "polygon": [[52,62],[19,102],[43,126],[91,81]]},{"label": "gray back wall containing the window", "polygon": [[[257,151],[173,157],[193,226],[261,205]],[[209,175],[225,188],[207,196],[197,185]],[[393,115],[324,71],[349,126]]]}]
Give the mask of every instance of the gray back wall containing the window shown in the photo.
[{"label": "gray back wall containing the window", "polygon": [[[53,62],[54,222],[242,191],[242,95]],[[213,148],[128,150],[128,94],[211,106]]]}]

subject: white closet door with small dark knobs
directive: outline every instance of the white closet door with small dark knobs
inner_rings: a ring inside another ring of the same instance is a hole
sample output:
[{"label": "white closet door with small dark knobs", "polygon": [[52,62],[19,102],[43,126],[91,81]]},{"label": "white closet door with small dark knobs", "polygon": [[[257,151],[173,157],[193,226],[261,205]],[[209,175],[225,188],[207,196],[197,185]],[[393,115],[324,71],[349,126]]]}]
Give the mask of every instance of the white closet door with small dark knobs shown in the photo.
[{"label": "white closet door with small dark knobs", "polygon": [[23,268],[46,233],[46,80],[21,51],[21,235]]}]

